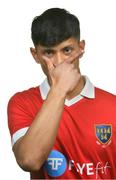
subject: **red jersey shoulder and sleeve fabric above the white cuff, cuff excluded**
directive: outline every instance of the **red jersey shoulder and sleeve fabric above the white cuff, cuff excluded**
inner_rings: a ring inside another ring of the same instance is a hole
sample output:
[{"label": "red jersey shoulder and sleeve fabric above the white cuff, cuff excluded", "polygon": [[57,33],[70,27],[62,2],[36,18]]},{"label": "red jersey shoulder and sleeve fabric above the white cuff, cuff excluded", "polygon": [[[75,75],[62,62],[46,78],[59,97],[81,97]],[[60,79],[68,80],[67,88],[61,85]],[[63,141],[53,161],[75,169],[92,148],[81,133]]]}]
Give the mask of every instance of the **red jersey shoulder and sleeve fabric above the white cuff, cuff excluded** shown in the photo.
[{"label": "red jersey shoulder and sleeve fabric above the white cuff, cuff excluded", "polygon": [[11,135],[19,129],[29,127],[39,112],[42,99],[39,87],[30,88],[14,94],[7,107],[8,126]]}]

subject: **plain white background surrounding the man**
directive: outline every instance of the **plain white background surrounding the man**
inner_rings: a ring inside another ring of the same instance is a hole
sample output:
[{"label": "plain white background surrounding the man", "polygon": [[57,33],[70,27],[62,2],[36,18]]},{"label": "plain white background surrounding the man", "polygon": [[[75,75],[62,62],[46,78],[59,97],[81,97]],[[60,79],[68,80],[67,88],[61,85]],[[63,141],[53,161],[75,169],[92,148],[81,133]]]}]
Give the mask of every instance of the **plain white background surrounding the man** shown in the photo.
[{"label": "plain white background surrounding the man", "polygon": [[15,162],[7,127],[7,103],[17,91],[40,84],[44,75],[29,52],[33,17],[51,7],[77,15],[86,41],[81,71],[116,94],[115,0],[4,0],[0,2],[0,179],[28,180]]}]

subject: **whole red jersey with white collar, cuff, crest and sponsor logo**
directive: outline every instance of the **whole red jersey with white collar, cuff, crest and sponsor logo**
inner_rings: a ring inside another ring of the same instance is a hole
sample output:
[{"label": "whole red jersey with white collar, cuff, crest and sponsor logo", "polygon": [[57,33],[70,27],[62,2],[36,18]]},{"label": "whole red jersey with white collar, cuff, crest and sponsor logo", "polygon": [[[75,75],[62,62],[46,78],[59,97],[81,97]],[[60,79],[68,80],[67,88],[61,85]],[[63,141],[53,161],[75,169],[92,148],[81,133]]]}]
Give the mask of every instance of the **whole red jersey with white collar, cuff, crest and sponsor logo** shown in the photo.
[{"label": "whole red jersey with white collar, cuff, crest and sponsor logo", "polygon": [[[8,105],[14,144],[39,112],[49,91],[40,87],[15,94]],[[32,179],[116,179],[116,97],[94,87],[86,77],[80,95],[66,100],[48,159]]]}]

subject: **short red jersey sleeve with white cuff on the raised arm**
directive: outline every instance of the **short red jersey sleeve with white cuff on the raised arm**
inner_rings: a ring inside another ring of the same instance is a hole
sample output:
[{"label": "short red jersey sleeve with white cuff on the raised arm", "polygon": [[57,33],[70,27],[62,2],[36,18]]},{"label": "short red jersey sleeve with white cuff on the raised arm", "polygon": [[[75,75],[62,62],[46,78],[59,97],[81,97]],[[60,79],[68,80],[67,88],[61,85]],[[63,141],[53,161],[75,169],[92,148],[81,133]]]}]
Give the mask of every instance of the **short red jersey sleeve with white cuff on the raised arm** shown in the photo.
[{"label": "short red jersey sleeve with white cuff on the raised arm", "polygon": [[34,119],[31,104],[22,94],[15,94],[8,103],[8,127],[12,146],[25,135]]}]

